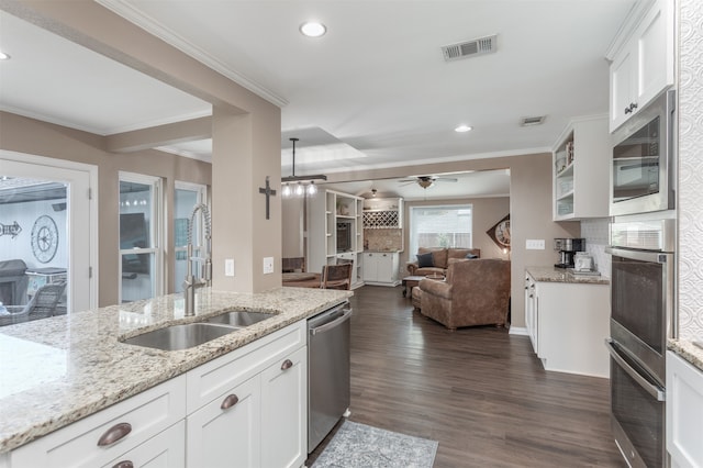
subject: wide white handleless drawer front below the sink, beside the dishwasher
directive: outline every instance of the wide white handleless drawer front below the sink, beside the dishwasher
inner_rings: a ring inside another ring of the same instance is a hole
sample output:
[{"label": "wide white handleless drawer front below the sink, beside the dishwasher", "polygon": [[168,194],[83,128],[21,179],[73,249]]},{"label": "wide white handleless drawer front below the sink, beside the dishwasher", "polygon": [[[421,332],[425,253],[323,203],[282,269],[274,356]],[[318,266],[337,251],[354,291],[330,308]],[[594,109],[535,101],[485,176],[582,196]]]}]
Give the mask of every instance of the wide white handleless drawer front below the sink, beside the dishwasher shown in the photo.
[{"label": "wide white handleless drawer front below the sink, beside the dishwasher", "polygon": [[306,332],[303,320],[188,371],[188,414],[305,345]]}]

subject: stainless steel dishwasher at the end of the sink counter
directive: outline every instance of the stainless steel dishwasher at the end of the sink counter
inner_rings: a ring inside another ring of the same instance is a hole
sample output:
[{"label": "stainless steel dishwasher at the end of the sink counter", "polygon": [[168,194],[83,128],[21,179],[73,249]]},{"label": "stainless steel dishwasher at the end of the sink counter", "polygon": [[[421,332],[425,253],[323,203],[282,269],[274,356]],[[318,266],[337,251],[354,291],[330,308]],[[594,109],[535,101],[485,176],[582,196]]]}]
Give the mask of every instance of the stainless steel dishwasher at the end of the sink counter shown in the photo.
[{"label": "stainless steel dishwasher at the end of the sink counter", "polygon": [[308,453],[349,415],[348,302],[308,320]]}]

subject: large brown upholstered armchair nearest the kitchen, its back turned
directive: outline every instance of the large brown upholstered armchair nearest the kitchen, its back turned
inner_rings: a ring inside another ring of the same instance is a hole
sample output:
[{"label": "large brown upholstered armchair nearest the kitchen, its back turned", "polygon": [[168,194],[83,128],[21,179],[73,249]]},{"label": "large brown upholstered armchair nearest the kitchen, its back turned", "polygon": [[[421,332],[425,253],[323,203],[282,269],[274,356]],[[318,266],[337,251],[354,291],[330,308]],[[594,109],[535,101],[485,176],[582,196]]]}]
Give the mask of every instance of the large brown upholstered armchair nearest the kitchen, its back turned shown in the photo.
[{"label": "large brown upholstered armchair nearest the kitchen, its back turned", "polygon": [[423,279],[419,285],[423,315],[456,330],[460,326],[507,323],[510,261],[498,258],[455,261],[445,281]]}]

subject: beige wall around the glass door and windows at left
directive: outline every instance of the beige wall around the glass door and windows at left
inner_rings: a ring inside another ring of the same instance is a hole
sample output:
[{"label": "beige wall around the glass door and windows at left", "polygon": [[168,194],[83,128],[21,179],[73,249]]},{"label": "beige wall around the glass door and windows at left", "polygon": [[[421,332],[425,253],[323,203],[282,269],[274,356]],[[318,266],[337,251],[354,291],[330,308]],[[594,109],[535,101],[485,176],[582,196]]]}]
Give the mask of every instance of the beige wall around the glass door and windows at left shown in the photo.
[{"label": "beige wall around the glass door and windows at left", "polygon": [[[210,185],[210,164],[156,151],[115,155],[102,149],[104,138],[85,132],[0,112],[0,148],[45,156],[98,167],[99,207],[99,305],[118,302],[119,205],[121,170],[160,177],[164,180],[165,216],[172,219],[174,181]],[[171,231],[168,229],[168,231]],[[166,264],[172,263],[174,239],[166,244]],[[172,269],[166,272],[166,287],[171,291]]]}]

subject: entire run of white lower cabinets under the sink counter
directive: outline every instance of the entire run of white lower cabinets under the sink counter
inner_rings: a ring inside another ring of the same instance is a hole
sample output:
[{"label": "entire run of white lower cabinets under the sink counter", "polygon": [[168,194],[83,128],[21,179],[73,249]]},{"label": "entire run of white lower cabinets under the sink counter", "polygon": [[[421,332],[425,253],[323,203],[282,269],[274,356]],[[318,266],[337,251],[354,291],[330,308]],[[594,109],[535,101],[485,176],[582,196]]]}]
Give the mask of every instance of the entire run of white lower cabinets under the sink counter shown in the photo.
[{"label": "entire run of white lower cabinets under the sink counter", "polygon": [[301,467],[306,333],[304,320],[274,332],[0,455],[0,467]]}]

